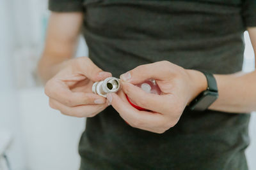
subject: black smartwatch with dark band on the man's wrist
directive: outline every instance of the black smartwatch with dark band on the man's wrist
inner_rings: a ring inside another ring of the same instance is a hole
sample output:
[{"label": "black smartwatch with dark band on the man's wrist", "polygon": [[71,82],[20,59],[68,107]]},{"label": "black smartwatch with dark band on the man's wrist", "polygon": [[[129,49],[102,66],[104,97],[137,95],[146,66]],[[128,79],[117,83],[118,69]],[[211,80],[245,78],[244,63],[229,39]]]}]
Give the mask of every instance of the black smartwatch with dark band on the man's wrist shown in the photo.
[{"label": "black smartwatch with dark band on the man's wrist", "polygon": [[191,103],[189,104],[190,110],[204,111],[211,106],[216,99],[218,99],[218,87],[216,80],[211,73],[201,71],[204,73],[207,79],[207,89],[204,92],[201,92]]}]

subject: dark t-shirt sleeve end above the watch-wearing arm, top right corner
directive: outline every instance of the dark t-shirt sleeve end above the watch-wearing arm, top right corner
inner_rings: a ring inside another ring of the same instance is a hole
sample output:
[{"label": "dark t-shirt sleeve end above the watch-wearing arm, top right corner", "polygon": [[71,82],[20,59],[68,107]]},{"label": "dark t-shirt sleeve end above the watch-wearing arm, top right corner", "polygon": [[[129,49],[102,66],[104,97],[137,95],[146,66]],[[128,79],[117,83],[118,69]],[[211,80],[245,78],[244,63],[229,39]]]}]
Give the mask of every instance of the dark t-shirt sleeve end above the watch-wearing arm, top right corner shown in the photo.
[{"label": "dark t-shirt sleeve end above the watch-wearing arm, top right corner", "polygon": [[256,27],[256,0],[244,0],[243,18],[246,27]]}]

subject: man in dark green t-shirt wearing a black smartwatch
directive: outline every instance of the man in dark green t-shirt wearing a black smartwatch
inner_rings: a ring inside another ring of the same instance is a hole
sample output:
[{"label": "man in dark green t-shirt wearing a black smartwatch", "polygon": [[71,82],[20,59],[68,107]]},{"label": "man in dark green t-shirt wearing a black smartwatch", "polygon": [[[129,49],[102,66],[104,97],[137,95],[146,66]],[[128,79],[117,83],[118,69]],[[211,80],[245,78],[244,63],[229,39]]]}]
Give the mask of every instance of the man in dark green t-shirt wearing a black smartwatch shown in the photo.
[{"label": "man in dark green t-shirt wearing a black smartwatch", "polygon": [[[244,31],[256,49],[255,0],[50,0],[49,9],[38,71],[52,108],[87,117],[81,169],[248,169],[256,71],[241,69]],[[72,59],[80,32],[89,58]],[[93,94],[111,75],[122,90]],[[161,95],[135,86],[148,79]]]}]

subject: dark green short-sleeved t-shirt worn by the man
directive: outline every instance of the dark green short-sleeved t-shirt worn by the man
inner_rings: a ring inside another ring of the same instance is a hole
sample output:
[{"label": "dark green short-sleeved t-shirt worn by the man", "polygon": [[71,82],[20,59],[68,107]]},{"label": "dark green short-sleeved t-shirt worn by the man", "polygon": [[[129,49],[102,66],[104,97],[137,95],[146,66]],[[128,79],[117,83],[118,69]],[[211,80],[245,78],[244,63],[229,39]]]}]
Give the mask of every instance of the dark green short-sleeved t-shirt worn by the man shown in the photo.
[{"label": "dark green short-sleeved t-shirt worn by the man", "polygon": [[[159,60],[241,71],[243,32],[256,26],[255,0],[50,0],[49,9],[83,11],[89,57],[116,77]],[[186,109],[175,127],[154,134],[129,126],[109,106],[87,118],[81,169],[248,169],[249,119]]]}]

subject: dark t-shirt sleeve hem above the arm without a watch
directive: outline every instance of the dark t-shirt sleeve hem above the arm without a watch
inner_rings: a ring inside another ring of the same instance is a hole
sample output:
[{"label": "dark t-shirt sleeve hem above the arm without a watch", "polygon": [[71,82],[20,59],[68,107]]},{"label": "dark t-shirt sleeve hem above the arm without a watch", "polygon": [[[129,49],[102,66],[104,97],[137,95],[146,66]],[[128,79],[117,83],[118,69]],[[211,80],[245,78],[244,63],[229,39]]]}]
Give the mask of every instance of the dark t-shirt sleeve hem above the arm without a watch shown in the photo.
[{"label": "dark t-shirt sleeve hem above the arm without a watch", "polygon": [[49,0],[49,10],[56,12],[83,11],[83,0]]}]

